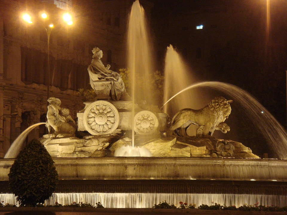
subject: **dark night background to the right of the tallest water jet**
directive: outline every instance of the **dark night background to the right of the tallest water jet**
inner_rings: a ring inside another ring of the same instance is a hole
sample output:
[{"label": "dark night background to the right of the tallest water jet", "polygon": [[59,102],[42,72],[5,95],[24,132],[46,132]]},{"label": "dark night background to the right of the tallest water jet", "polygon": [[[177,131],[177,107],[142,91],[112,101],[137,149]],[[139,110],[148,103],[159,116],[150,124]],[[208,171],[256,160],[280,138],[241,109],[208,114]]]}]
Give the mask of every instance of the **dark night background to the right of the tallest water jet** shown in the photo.
[{"label": "dark night background to the right of the tallest water jet", "polygon": [[[286,128],[287,1],[153,2],[151,26],[157,62],[164,62],[165,48],[172,44],[197,81],[242,88]],[[203,28],[196,30],[199,25]],[[259,156],[269,151],[250,123],[251,116],[236,101],[231,107],[226,120],[233,131],[230,139],[240,140]],[[224,138],[229,137],[224,134]]]}]

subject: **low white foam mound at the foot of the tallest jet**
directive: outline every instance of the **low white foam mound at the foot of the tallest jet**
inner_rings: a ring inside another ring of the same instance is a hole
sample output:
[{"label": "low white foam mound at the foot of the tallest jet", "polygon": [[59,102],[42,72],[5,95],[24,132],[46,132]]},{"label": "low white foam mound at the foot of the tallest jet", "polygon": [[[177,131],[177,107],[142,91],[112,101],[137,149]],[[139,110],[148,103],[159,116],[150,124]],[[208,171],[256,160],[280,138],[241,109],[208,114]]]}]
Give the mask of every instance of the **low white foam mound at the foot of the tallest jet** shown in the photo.
[{"label": "low white foam mound at the foot of the tallest jet", "polygon": [[122,146],[115,150],[115,157],[152,157],[152,153],[147,148]]}]

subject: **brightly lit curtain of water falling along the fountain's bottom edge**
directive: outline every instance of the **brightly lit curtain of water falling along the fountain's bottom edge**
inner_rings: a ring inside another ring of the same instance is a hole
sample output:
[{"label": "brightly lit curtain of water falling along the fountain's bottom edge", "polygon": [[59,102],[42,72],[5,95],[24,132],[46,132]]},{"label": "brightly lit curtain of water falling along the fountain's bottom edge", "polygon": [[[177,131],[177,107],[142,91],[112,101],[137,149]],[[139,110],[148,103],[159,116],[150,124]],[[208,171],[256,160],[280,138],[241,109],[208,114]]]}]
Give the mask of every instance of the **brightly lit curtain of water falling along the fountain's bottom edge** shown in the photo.
[{"label": "brightly lit curtain of water falling along the fountain's bottom edge", "polygon": [[[14,194],[1,194],[0,201],[19,206]],[[152,208],[155,204],[166,201],[179,207],[179,202],[212,205],[216,202],[220,205],[236,207],[244,204],[254,205],[287,205],[287,197],[282,195],[257,195],[257,194],[216,194],[216,193],[54,193],[45,205],[54,205],[58,202],[62,205],[70,205],[73,202],[85,202],[96,206],[100,202],[105,208]]]}]

